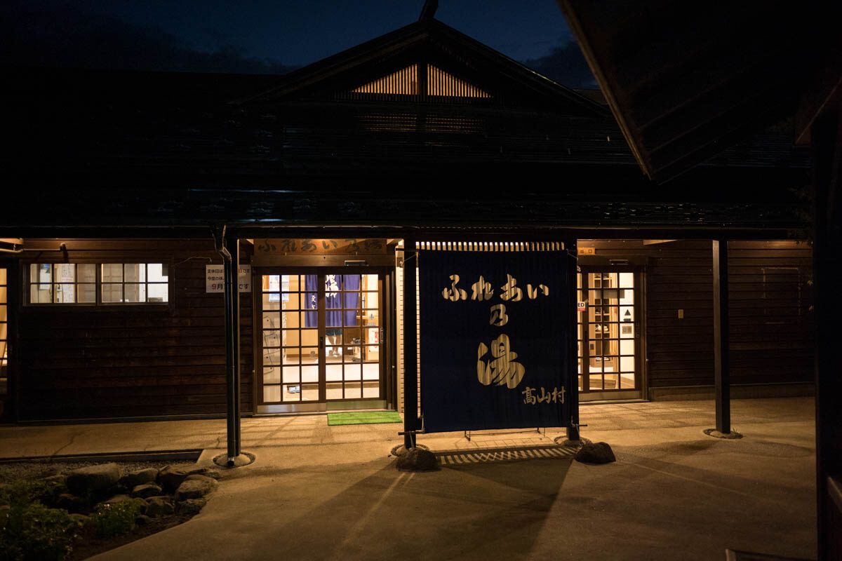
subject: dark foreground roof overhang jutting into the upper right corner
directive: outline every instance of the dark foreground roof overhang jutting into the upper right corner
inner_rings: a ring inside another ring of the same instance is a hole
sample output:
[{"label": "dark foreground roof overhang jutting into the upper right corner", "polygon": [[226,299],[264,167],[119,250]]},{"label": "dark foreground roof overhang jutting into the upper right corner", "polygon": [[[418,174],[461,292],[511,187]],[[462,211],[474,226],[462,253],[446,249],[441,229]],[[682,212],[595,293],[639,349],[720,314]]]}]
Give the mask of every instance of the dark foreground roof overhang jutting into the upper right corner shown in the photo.
[{"label": "dark foreground roof overhang jutting into the upper right corner", "polygon": [[558,4],[638,163],[658,182],[791,117],[838,60],[838,3]]}]

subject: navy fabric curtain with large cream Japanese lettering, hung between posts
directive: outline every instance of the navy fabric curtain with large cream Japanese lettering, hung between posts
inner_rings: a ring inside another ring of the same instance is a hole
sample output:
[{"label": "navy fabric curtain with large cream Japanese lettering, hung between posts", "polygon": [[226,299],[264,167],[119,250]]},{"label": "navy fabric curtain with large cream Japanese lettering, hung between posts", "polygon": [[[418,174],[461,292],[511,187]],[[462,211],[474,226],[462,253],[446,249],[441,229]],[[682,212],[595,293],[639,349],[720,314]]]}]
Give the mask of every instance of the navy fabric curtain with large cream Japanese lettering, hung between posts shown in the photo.
[{"label": "navy fabric curtain with large cream Japanese lettering, hung between posts", "polygon": [[428,432],[569,426],[567,257],[419,251]]}]

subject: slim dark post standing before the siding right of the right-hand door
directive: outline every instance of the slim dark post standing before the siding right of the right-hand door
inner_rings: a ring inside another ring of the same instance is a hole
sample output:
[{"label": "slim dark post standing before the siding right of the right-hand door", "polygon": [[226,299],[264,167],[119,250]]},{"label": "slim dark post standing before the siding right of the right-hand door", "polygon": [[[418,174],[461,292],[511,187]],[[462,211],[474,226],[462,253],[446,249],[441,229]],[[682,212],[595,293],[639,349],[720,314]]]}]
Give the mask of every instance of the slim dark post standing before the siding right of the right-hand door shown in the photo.
[{"label": "slim dark post standing before the siding right of the right-hand door", "polygon": [[713,373],[717,431],[731,432],[731,372],[728,357],[728,242],[713,241]]}]

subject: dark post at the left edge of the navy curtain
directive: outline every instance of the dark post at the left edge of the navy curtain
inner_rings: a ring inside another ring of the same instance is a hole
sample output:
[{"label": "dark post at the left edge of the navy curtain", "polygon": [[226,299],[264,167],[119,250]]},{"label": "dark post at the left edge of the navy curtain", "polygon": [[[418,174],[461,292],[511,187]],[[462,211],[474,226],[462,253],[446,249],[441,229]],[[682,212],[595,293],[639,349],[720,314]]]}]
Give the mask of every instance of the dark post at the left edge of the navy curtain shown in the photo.
[{"label": "dark post at the left edge of the navy curtain", "polygon": [[418,345],[415,306],[415,269],[418,251],[415,239],[403,238],[403,446],[415,447],[418,430]]}]

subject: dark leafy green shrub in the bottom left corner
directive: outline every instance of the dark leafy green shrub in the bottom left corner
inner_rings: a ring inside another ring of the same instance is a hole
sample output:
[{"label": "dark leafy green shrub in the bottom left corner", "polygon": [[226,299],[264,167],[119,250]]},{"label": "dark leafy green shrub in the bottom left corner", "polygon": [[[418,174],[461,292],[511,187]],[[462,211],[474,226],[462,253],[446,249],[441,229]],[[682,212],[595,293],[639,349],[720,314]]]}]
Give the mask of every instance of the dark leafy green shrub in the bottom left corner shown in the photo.
[{"label": "dark leafy green shrub in the bottom left corner", "polygon": [[0,524],[3,561],[61,561],[70,553],[79,527],[67,511],[39,502],[13,505]]}]

